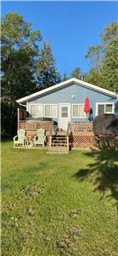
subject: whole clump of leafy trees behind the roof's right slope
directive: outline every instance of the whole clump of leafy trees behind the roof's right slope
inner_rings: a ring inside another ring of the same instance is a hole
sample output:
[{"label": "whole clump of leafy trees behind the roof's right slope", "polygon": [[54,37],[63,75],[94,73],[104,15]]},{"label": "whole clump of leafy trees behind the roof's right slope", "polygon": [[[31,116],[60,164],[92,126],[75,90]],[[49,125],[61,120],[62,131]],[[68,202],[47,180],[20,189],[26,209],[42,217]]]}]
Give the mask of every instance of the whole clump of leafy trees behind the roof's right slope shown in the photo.
[{"label": "whole clump of leafy trees behind the roof's right slope", "polygon": [[90,59],[87,82],[108,90],[118,90],[118,22],[104,27],[102,42],[88,49]]}]

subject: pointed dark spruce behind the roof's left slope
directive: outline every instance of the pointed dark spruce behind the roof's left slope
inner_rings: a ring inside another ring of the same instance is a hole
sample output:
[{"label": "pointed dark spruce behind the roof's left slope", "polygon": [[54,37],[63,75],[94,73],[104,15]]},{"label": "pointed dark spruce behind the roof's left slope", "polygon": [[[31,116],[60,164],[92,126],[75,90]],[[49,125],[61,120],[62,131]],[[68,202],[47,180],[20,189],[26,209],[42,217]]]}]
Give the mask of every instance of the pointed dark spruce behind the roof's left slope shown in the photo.
[{"label": "pointed dark spruce behind the roof's left slope", "polygon": [[42,89],[60,82],[60,75],[55,68],[52,49],[49,42],[46,44],[45,41],[43,42],[43,47],[37,61],[37,82]]}]

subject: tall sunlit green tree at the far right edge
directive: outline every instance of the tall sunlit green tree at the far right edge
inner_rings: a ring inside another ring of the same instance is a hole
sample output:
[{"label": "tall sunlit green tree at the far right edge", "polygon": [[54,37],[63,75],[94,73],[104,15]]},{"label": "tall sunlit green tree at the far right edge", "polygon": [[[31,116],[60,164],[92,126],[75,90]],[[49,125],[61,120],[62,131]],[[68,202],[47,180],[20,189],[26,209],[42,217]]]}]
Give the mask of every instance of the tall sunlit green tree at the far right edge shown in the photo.
[{"label": "tall sunlit green tree at the far right edge", "polygon": [[102,38],[104,41],[102,67],[104,88],[118,91],[118,22],[105,26]]}]

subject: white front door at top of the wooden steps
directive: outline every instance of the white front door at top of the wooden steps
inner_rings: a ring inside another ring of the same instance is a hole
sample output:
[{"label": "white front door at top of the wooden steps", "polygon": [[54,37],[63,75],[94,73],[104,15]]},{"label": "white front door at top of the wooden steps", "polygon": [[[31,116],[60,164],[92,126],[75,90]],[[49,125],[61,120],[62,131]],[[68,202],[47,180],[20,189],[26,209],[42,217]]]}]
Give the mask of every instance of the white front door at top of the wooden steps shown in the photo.
[{"label": "white front door at top of the wooden steps", "polygon": [[59,104],[59,128],[67,131],[68,122],[70,122],[70,104]]}]

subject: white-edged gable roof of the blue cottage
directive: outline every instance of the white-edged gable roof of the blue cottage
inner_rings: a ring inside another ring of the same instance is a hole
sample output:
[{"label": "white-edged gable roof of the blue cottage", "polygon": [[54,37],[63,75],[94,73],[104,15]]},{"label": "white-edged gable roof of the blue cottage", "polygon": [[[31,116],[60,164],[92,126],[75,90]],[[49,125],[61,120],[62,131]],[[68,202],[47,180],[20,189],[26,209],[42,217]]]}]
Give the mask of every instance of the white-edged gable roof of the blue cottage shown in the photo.
[{"label": "white-edged gable roof of the blue cottage", "polygon": [[59,88],[63,88],[63,87],[65,87],[66,85],[73,84],[73,83],[76,83],[76,84],[79,84],[79,85],[81,85],[81,86],[87,87],[88,89],[96,90],[96,91],[98,91],[98,92],[104,93],[105,95],[108,95],[108,96],[112,96],[112,97],[114,97],[114,98],[117,98],[116,93],[113,92],[113,91],[106,90],[106,89],[101,88],[101,87],[98,87],[98,86],[96,86],[96,85],[89,84],[89,83],[87,83],[87,82],[85,82],[85,81],[81,81],[81,80],[79,80],[79,79],[74,79],[74,78],[72,78],[72,79],[68,79],[68,80],[66,80],[66,81],[64,81],[64,82],[61,82],[61,83],[59,83],[59,84],[55,84],[55,85],[53,85],[53,86],[51,86],[51,87],[49,87],[49,88],[47,88],[47,89],[39,90],[39,91],[37,91],[37,92],[35,92],[35,93],[29,95],[29,96],[25,96],[25,97],[23,97],[23,98],[20,98],[20,99],[17,100],[16,102],[18,102],[18,103],[26,102],[26,101],[30,100],[31,98],[34,98],[34,97],[36,97],[36,96],[42,96],[43,94],[46,94],[46,93],[51,92],[51,91],[53,91],[53,90],[57,90],[57,89],[59,89]]}]

